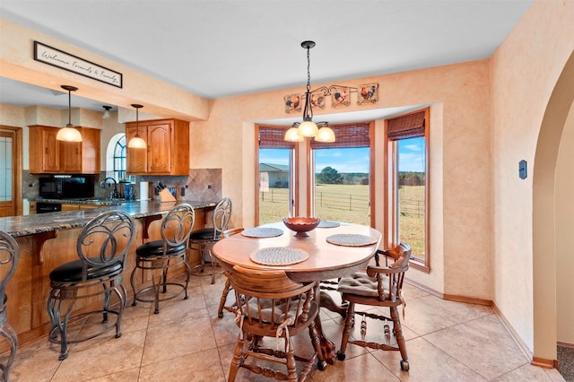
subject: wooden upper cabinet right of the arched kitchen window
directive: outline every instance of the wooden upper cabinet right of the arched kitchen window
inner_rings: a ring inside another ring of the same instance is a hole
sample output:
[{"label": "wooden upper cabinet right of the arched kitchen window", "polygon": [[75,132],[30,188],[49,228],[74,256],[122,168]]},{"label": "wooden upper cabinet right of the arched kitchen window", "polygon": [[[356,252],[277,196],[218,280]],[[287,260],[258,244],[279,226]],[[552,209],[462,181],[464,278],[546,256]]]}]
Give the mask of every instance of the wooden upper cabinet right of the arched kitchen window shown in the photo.
[{"label": "wooden upper cabinet right of the arched kitchen window", "polygon": [[139,129],[145,149],[127,148],[128,174],[133,175],[188,175],[189,122],[178,119],[154,119],[126,122],[126,142]]}]

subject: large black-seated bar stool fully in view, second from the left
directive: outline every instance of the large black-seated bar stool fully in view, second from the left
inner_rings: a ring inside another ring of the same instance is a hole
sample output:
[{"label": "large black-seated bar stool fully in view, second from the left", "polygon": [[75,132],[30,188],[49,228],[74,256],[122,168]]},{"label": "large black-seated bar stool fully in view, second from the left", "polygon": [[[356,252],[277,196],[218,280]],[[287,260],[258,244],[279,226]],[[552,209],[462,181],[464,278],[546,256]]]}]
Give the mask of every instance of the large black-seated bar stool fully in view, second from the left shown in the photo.
[{"label": "large black-seated bar stool fully in view, second from the left", "polygon": [[[60,344],[59,360],[65,360],[71,343],[80,343],[116,328],[116,338],[121,333],[121,319],[126,308],[126,288],[122,273],[126,266],[126,255],[135,236],[135,223],[130,215],[121,211],[101,213],[82,230],[76,242],[78,260],[57,266],[49,274],[50,291],[47,308],[52,329],[48,335],[51,343]],[[112,293],[119,304],[110,307]],[[86,303],[102,295],[103,307],[98,310],[76,314],[74,306],[79,300]],[[69,338],[70,326],[83,323],[84,318],[102,315],[102,328],[98,333],[82,332],[76,338]],[[116,321],[109,325],[108,316],[116,315]]]}]

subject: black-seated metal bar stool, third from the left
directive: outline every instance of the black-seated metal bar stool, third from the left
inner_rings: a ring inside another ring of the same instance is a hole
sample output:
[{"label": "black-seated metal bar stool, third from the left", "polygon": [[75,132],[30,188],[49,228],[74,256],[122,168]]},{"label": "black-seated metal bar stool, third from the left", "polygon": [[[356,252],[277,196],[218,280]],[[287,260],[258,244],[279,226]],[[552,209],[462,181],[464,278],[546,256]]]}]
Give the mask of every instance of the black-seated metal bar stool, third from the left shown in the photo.
[{"label": "black-seated metal bar stool, third from the left", "polygon": [[[187,249],[189,235],[194,227],[196,213],[187,203],[178,204],[161,221],[161,238],[148,241],[135,250],[135,268],[130,276],[130,283],[134,291],[135,307],[137,301],[153,302],[153,313],[160,313],[160,301],[171,300],[184,293],[187,300],[187,284],[191,268],[187,264]],[[186,268],[186,283],[168,282],[170,267],[184,265]],[[138,269],[152,271],[152,285],[140,291],[135,290],[135,273]],[[156,273],[160,273],[156,275]],[[168,286],[179,288],[176,293],[168,293]],[[161,291],[161,293],[160,293]],[[152,296],[150,296],[152,292]]]}]

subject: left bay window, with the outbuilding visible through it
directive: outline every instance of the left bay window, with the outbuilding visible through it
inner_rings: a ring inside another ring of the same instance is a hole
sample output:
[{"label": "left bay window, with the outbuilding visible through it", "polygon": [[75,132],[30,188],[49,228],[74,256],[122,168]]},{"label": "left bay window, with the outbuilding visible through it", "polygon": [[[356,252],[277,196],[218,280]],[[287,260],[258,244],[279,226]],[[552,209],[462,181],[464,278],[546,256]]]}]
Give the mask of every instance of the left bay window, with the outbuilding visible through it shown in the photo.
[{"label": "left bay window, with the outbuilding visible through it", "polygon": [[295,211],[295,143],[283,140],[284,126],[257,126],[257,221],[281,221]]}]

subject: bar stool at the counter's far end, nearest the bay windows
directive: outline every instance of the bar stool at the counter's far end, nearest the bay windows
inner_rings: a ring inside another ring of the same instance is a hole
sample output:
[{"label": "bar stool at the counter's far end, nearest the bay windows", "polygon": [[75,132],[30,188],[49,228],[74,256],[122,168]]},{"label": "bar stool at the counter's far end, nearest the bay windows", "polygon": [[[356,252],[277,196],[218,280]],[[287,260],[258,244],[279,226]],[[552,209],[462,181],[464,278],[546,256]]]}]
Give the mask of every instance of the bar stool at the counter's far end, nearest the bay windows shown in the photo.
[{"label": "bar stool at the counter's far end, nearest the bay windows", "polygon": [[210,264],[212,265],[212,283],[215,283],[215,259],[212,254],[213,245],[222,239],[223,231],[227,230],[231,218],[231,200],[229,197],[224,197],[216,206],[213,211],[213,227],[204,228],[203,230],[194,230],[191,232],[189,242],[193,249],[196,249],[201,256],[201,264],[194,266],[201,268],[204,272],[205,255],[209,256]]}]

